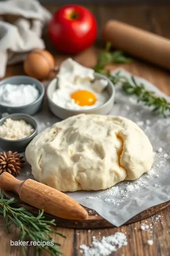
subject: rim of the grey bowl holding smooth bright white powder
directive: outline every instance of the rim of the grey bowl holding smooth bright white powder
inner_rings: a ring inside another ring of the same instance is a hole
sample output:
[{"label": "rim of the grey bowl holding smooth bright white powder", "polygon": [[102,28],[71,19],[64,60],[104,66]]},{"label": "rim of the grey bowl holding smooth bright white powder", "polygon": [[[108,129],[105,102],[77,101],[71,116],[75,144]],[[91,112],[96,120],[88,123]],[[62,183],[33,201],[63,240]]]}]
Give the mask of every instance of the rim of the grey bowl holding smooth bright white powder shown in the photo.
[{"label": "rim of the grey bowl holding smooth bright white powder", "polygon": [[38,101],[40,101],[40,100],[44,97],[45,88],[44,88],[42,82],[40,82],[38,79],[36,79],[36,78],[34,78],[34,77],[32,77],[32,76],[29,76],[29,75],[13,75],[13,76],[6,77],[6,78],[4,78],[4,79],[2,79],[2,80],[0,81],[0,86],[1,86],[2,83],[4,83],[5,81],[7,81],[7,80],[9,80],[9,79],[11,79],[11,78],[17,78],[17,77],[20,77],[20,78],[23,78],[23,79],[26,78],[26,77],[28,77],[28,78],[32,79],[34,82],[38,82],[38,83],[41,85],[41,87],[42,87],[42,92],[41,92],[41,94],[39,95],[38,99],[36,99],[36,101],[33,101],[32,103],[29,103],[29,104],[24,105],[24,106],[17,106],[17,107],[15,107],[15,106],[3,105],[3,104],[0,103],[0,107],[11,108],[11,109],[13,109],[13,110],[17,110],[17,109],[21,109],[21,108],[24,109],[24,108],[27,108],[27,107],[30,107],[30,106],[36,104]]}]

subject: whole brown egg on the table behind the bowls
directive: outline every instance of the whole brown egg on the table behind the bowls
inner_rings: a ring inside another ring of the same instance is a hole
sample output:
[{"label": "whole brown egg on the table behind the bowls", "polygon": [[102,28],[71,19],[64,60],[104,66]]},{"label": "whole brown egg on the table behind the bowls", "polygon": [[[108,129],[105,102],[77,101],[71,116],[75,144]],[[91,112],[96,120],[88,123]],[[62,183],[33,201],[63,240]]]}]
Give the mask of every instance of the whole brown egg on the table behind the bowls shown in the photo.
[{"label": "whole brown egg on the table behind the bowls", "polygon": [[27,75],[43,80],[54,68],[54,57],[46,50],[35,49],[26,56],[24,71]]}]

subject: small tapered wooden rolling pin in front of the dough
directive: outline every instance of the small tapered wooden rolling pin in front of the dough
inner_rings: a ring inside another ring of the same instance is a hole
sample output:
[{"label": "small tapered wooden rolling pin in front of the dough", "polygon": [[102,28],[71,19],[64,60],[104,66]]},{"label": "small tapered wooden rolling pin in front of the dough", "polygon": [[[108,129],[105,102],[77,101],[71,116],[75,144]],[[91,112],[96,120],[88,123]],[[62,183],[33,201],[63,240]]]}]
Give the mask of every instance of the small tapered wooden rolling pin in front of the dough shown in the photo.
[{"label": "small tapered wooden rolling pin in front of the dough", "polygon": [[87,211],[74,199],[31,179],[19,181],[9,173],[2,173],[0,188],[17,192],[22,201],[63,219],[86,219],[88,217]]}]

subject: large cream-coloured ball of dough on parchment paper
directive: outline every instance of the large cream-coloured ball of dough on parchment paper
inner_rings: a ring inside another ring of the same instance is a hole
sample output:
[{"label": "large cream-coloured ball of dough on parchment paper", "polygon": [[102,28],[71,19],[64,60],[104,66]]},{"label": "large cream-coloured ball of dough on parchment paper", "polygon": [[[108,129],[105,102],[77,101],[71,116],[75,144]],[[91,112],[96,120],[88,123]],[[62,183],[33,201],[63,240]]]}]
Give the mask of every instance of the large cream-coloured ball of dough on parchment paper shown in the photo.
[{"label": "large cream-coloured ball of dough on parchment paper", "polygon": [[103,190],[149,172],[153,147],[129,119],[80,114],[34,137],[26,160],[35,179],[59,191]]}]

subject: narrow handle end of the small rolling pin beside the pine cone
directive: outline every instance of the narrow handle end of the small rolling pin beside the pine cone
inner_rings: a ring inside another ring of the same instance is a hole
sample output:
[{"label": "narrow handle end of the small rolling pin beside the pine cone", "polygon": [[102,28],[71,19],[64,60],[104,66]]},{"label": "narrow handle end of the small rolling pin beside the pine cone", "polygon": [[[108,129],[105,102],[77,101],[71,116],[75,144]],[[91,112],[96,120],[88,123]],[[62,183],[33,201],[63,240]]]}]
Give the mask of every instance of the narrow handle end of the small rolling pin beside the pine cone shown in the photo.
[{"label": "narrow handle end of the small rolling pin beside the pine cone", "polygon": [[19,195],[23,183],[7,172],[0,175],[0,188],[3,190],[17,192]]}]

